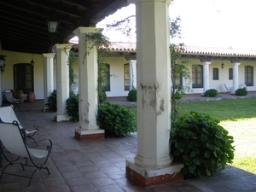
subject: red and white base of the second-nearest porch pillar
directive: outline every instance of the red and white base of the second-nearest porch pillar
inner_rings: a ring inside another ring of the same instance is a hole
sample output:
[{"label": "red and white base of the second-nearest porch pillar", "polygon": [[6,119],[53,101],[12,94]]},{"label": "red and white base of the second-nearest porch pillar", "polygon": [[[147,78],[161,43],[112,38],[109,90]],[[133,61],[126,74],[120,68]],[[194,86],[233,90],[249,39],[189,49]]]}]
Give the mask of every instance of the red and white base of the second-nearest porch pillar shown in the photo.
[{"label": "red and white base of the second-nearest porch pillar", "polygon": [[102,138],[105,138],[105,130],[96,129],[96,130],[85,131],[78,128],[75,130],[75,138],[79,140],[102,139]]}]

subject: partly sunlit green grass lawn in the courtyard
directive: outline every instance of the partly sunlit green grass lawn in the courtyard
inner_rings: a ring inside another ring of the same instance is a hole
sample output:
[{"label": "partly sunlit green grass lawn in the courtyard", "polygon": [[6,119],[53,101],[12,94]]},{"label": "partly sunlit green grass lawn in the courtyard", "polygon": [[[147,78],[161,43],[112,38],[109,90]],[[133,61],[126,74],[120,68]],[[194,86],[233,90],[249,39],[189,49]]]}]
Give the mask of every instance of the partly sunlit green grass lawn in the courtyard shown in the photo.
[{"label": "partly sunlit green grass lawn in the courtyard", "polygon": [[[129,107],[137,113],[136,107]],[[232,166],[256,174],[256,98],[179,103],[181,113],[208,113],[234,137]]]}]

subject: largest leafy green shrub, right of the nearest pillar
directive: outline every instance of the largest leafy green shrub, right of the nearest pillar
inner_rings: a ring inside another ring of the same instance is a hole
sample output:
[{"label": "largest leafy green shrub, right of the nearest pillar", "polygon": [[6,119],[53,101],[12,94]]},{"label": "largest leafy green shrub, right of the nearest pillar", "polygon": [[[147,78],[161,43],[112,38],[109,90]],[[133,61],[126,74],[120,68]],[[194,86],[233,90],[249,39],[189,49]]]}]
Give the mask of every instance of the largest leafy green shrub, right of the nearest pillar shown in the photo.
[{"label": "largest leafy green shrub, right of the nearest pillar", "polygon": [[170,133],[171,154],[182,162],[184,177],[211,176],[234,159],[233,137],[206,113],[185,113]]}]

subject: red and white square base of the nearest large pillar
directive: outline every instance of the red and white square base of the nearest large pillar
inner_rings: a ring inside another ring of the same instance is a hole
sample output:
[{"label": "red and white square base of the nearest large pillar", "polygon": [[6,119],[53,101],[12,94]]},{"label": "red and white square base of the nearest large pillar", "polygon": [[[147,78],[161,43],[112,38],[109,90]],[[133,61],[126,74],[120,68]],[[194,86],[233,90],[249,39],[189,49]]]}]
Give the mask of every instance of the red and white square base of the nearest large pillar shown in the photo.
[{"label": "red and white square base of the nearest large pillar", "polygon": [[148,170],[147,168],[136,166],[134,160],[126,160],[126,176],[143,187],[182,181],[184,178],[180,172],[182,168],[182,163],[172,163],[164,168]]}]

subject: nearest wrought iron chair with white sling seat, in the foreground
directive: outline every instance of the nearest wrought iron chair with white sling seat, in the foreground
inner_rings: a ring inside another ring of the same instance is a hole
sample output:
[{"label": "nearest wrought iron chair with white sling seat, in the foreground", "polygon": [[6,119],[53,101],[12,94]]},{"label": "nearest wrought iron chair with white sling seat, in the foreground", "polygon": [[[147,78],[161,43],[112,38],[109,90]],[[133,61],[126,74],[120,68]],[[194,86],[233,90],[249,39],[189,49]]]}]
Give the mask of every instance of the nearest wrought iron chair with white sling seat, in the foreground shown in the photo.
[{"label": "nearest wrought iron chair with white sling seat, in the foreground", "polygon": [[[5,148],[4,150],[3,148],[1,148],[3,157],[5,160],[9,162],[9,164],[4,166],[3,168],[3,171],[0,175],[0,181],[1,181],[1,178],[3,177],[3,174],[19,176],[19,177],[27,177],[27,176],[15,174],[12,172],[6,172],[9,166],[13,166],[15,164],[20,164],[23,171],[25,170],[24,169],[25,166],[35,168],[34,172],[32,172],[32,175],[28,177],[30,178],[28,186],[31,184],[34,173],[37,172],[38,170],[46,169],[47,172],[49,173],[49,169],[47,166],[45,166],[45,164],[49,158],[49,153],[52,148],[51,140],[45,139],[45,140],[38,141],[38,142],[43,142],[43,141],[49,142],[49,145],[47,145],[45,149],[29,148],[26,144],[26,131],[22,128],[20,129],[19,123],[17,121],[14,121],[13,123],[0,123],[0,140],[3,143],[3,146]],[[7,156],[8,153],[6,153],[6,150],[8,150],[9,153],[11,154],[17,155],[16,159],[9,160]],[[20,161],[20,157],[25,158],[26,160],[25,163],[22,163]],[[31,161],[32,165],[28,165],[28,162],[27,162],[28,159]],[[36,163],[36,160],[38,159],[40,159],[40,162],[43,162],[43,163],[38,165],[38,163]]]}]

